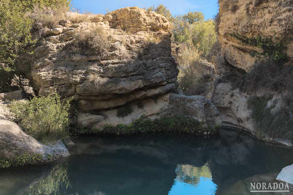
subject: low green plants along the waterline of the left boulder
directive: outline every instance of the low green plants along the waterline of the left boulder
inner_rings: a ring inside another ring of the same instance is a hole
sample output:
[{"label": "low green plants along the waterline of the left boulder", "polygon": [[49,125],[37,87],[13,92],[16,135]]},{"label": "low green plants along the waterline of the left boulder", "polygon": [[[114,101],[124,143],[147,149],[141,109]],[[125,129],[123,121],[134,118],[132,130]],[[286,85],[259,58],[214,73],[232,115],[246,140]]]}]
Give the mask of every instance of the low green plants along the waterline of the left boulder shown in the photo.
[{"label": "low green plants along the waterline of the left boulder", "polygon": [[0,157],[0,168],[8,168],[10,166],[23,166],[36,163],[40,160],[42,160],[42,154],[25,152],[11,159]]}]

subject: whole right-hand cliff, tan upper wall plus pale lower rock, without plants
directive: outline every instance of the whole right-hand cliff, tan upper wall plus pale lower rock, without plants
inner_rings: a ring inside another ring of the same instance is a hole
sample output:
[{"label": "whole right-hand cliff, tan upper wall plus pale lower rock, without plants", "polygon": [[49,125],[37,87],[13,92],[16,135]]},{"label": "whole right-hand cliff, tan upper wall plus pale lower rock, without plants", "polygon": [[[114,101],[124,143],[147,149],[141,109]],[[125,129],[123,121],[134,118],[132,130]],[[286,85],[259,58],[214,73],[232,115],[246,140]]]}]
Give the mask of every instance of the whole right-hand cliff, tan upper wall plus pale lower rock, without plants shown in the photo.
[{"label": "whole right-hand cliff, tan upper wall plus pale lower rock, without plants", "polygon": [[[219,1],[219,3],[221,22],[218,38],[222,49],[214,56],[215,72],[218,79],[215,80],[211,100],[219,109],[224,126],[254,133],[255,121],[251,118],[252,111],[248,108],[247,101],[250,96],[262,96],[268,91],[241,92],[233,86],[233,83],[230,83],[234,81],[222,78],[229,78],[231,77],[229,75],[235,76],[238,73],[248,73],[257,59],[265,58],[262,55],[264,53],[262,46],[251,42],[245,43],[245,40],[263,38],[270,39],[273,44],[282,41],[287,48],[281,52],[287,54],[289,63],[292,62],[293,3],[288,0],[231,0]],[[253,53],[261,55],[253,57]],[[270,93],[273,98],[268,101],[266,107],[272,107],[272,113],[280,108],[282,99],[277,92]],[[271,139],[271,141],[273,140]],[[280,142],[280,140],[275,141]],[[283,144],[291,145],[289,142]]]}]

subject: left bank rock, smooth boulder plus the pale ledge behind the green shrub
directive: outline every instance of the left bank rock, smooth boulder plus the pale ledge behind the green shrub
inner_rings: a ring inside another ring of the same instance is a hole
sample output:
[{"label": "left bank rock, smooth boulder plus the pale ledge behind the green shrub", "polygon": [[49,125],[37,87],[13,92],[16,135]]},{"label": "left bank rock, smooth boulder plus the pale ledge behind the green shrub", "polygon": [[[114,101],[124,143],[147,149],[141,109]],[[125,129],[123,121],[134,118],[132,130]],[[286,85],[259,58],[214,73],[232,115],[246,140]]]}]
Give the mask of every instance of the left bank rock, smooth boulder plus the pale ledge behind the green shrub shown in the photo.
[{"label": "left bank rock, smooth boulder plus the pale ledge behind the green shrub", "polygon": [[59,140],[55,144],[46,146],[25,134],[16,123],[8,120],[11,115],[7,109],[8,102],[6,100],[28,101],[23,99],[23,94],[22,90],[0,94],[0,158],[13,159],[25,153],[39,154],[41,155],[40,159],[34,163],[42,164],[69,156],[70,154],[62,141]]}]

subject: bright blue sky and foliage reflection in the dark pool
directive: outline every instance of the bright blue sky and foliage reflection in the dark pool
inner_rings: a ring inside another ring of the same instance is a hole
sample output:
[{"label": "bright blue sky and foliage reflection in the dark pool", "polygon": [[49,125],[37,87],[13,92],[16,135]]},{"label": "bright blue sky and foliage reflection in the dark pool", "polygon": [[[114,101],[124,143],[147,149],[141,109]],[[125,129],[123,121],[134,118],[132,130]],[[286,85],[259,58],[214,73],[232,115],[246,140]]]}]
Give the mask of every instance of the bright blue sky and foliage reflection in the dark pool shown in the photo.
[{"label": "bright blue sky and foliage reflection in the dark pool", "polygon": [[168,195],[214,195],[217,185],[212,181],[208,164],[202,167],[177,165],[177,177]]}]

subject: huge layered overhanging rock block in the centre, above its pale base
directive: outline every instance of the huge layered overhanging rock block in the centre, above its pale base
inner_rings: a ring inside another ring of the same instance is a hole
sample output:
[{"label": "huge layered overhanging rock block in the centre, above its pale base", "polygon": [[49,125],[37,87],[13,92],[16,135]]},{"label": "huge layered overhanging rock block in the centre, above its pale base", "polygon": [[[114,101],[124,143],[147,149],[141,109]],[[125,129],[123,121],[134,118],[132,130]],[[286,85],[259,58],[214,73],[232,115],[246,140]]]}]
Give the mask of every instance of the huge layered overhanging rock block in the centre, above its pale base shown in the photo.
[{"label": "huge layered overhanging rock block in the centre, above its pale base", "polygon": [[[74,53],[76,33],[95,28],[110,41],[107,55]],[[45,33],[46,42],[34,50],[32,60],[23,63],[32,63],[30,78],[40,96],[56,88],[78,101],[80,110],[108,109],[177,88],[170,37],[162,15],[121,8],[91,22],[59,21]]]}]

